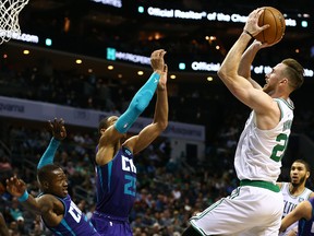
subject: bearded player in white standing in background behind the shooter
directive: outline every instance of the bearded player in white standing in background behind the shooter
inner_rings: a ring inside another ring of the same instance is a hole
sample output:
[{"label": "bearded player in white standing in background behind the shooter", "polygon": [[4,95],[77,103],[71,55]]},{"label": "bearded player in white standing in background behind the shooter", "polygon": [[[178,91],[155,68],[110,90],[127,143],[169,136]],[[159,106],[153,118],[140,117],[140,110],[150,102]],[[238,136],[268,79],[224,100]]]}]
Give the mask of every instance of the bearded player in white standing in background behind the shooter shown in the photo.
[{"label": "bearded player in white standing in background behind the shooter", "polygon": [[[290,182],[277,182],[283,196],[282,217],[290,213],[300,202],[314,197],[314,192],[305,187],[310,174],[310,165],[303,160],[295,160],[290,168]],[[298,222],[290,225],[279,235],[288,236],[291,231],[298,232]]]}]

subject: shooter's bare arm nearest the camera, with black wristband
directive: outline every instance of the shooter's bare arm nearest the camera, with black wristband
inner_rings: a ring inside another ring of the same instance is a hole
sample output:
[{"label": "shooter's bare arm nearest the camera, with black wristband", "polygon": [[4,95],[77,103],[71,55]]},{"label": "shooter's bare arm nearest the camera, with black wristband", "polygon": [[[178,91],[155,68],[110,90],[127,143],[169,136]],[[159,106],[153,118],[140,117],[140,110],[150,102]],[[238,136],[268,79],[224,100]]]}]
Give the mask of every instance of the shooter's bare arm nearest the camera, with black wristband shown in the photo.
[{"label": "shooter's bare arm nearest the camera, with black wristband", "polygon": [[[239,101],[254,109],[254,111],[259,116],[257,127],[261,129],[270,129],[274,128],[276,122],[278,122],[278,114],[280,113],[278,105],[268,94],[262,90],[256,90],[246,80],[246,78],[239,74],[240,61],[249,42],[251,40],[251,35],[257,35],[261,31],[269,26],[258,26],[258,17],[263,11],[264,10],[262,9],[257,9],[250,13],[243,33],[229,50],[218,71],[218,75]],[[246,32],[250,32],[251,35]],[[244,61],[242,61],[242,63],[244,63]],[[242,68],[244,67],[242,66]]]}]

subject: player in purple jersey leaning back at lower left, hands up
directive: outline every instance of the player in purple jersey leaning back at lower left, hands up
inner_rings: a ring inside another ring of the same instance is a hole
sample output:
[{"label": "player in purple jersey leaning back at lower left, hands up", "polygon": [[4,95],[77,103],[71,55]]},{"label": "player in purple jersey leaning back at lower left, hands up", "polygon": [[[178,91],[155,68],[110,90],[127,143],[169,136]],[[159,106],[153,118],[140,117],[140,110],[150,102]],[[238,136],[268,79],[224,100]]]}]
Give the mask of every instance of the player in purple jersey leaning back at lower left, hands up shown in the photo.
[{"label": "player in purple jersey leaning back at lower left, hands up", "polygon": [[[7,179],[7,190],[27,210],[39,214],[51,233],[63,236],[99,235],[86,215],[68,193],[68,178],[61,167],[53,164],[55,152],[60,140],[67,137],[64,121],[55,118],[50,122],[53,138],[37,166],[37,180],[41,193],[33,197],[26,184],[16,176]],[[51,148],[52,146],[52,148]]]}]

